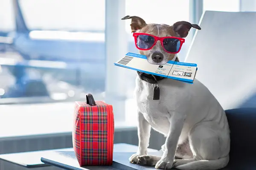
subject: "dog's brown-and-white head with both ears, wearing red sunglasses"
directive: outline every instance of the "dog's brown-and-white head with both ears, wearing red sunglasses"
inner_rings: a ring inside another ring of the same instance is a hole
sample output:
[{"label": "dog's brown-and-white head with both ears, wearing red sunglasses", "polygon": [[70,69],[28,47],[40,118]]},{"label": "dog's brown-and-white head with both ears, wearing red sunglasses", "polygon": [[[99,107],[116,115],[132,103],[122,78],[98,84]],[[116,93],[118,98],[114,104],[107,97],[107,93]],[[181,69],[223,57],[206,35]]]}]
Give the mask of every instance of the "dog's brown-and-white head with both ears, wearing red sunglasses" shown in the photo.
[{"label": "dog's brown-and-white head with both ears, wearing red sunglasses", "polygon": [[[196,28],[201,29],[200,26],[197,24],[191,24],[186,21],[179,21],[177,23],[174,23],[172,26],[166,25],[166,24],[147,24],[142,18],[137,16],[125,16],[122,18],[122,20],[131,19],[131,32],[139,32],[139,33],[146,33],[151,34],[153,36],[157,37],[180,37],[185,38],[189,34],[190,28]],[[146,44],[147,42],[143,42],[143,45],[152,45],[154,42],[154,38],[152,40],[146,40],[149,44]],[[140,43],[140,40],[137,40],[137,45]],[[163,42],[164,44],[165,42]],[[169,42],[167,42],[169,43]],[[175,42],[173,42],[175,43]],[[176,42],[177,43],[177,42]],[[180,43],[180,42],[179,42]],[[176,45],[177,46],[177,45]],[[175,48],[176,48],[175,46]],[[156,44],[153,46],[153,48],[149,50],[139,50],[140,54],[145,55],[148,59],[148,62],[151,64],[158,64],[163,65],[166,64],[169,60],[172,60],[175,58],[176,54],[166,52],[166,50],[163,49],[163,46],[160,41],[157,41]]]}]

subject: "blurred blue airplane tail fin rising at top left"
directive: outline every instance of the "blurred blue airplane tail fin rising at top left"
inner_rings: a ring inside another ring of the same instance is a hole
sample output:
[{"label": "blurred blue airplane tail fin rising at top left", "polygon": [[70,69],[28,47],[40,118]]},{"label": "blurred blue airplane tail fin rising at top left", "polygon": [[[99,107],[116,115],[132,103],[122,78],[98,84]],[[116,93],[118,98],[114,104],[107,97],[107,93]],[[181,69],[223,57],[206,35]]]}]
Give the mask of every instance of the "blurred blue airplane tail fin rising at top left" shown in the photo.
[{"label": "blurred blue airplane tail fin rising at top left", "polygon": [[17,32],[29,32],[29,29],[26,26],[23,14],[20,9],[19,0],[13,0],[13,9],[14,9],[14,16],[15,16],[15,25]]}]

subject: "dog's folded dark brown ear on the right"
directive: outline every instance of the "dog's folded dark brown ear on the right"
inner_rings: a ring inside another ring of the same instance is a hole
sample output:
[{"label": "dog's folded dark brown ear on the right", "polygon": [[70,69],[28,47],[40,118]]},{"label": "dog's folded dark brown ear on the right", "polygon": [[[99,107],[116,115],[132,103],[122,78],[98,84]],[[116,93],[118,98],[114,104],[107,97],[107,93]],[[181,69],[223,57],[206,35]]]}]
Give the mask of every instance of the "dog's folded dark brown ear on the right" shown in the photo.
[{"label": "dog's folded dark brown ear on the right", "polygon": [[185,38],[189,34],[191,27],[201,30],[200,26],[197,24],[192,24],[186,21],[178,21],[177,23],[174,23],[172,27],[175,33],[181,38]]}]

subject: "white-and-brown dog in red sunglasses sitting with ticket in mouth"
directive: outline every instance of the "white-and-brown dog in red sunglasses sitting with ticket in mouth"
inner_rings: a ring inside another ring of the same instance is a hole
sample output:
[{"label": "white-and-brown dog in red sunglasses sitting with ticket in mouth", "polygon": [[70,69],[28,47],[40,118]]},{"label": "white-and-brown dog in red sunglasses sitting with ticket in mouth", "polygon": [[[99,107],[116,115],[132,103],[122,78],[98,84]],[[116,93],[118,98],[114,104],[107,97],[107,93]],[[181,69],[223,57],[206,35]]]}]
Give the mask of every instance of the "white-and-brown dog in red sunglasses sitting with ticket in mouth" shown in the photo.
[{"label": "white-and-brown dog in red sunglasses sitting with ticket in mouth", "polygon": [[[147,24],[137,16],[131,19],[132,33],[145,33],[156,37],[187,37],[191,28],[201,30],[197,24],[179,21],[172,26]],[[139,41],[139,40],[138,40]],[[154,40],[143,40],[151,46]],[[152,42],[152,43],[151,43]],[[143,47],[141,42],[137,45]],[[151,44],[149,44],[151,43]],[[179,61],[175,53],[166,52],[157,41],[150,50],[139,50],[151,64],[164,65]],[[167,42],[168,44],[169,42]],[[165,47],[166,48],[166,47]],[[144,74],[153,79],[150,83],[138,72],[134,97],[137,102],[138,150],[129,161],[154,166],[155,169],[218,170],[227,166],[230,152],[230,129],[224,109],[206,86],[195,79],[193,84]],[[153,77],[153,78],[152,78]],[[153,88],[160,89],[160,99],[153,100]],[[166,136],[163,155],[148,155],[151,127]],[[175,159],[180,158],[180,159]]]}]

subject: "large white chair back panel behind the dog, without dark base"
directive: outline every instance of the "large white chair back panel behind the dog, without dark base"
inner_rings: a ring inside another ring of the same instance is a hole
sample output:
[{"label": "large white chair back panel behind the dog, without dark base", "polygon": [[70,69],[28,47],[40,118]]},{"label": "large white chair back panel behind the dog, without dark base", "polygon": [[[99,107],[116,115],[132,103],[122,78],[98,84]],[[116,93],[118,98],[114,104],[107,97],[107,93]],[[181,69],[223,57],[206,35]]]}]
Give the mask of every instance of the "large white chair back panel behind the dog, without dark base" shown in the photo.
[{"label": "large white chair back panel behind the dog, without dark base", "polygon": [[256,12],[206,11],[186,57],[224,109],[244,107],[256,92],[254,21]]}]

